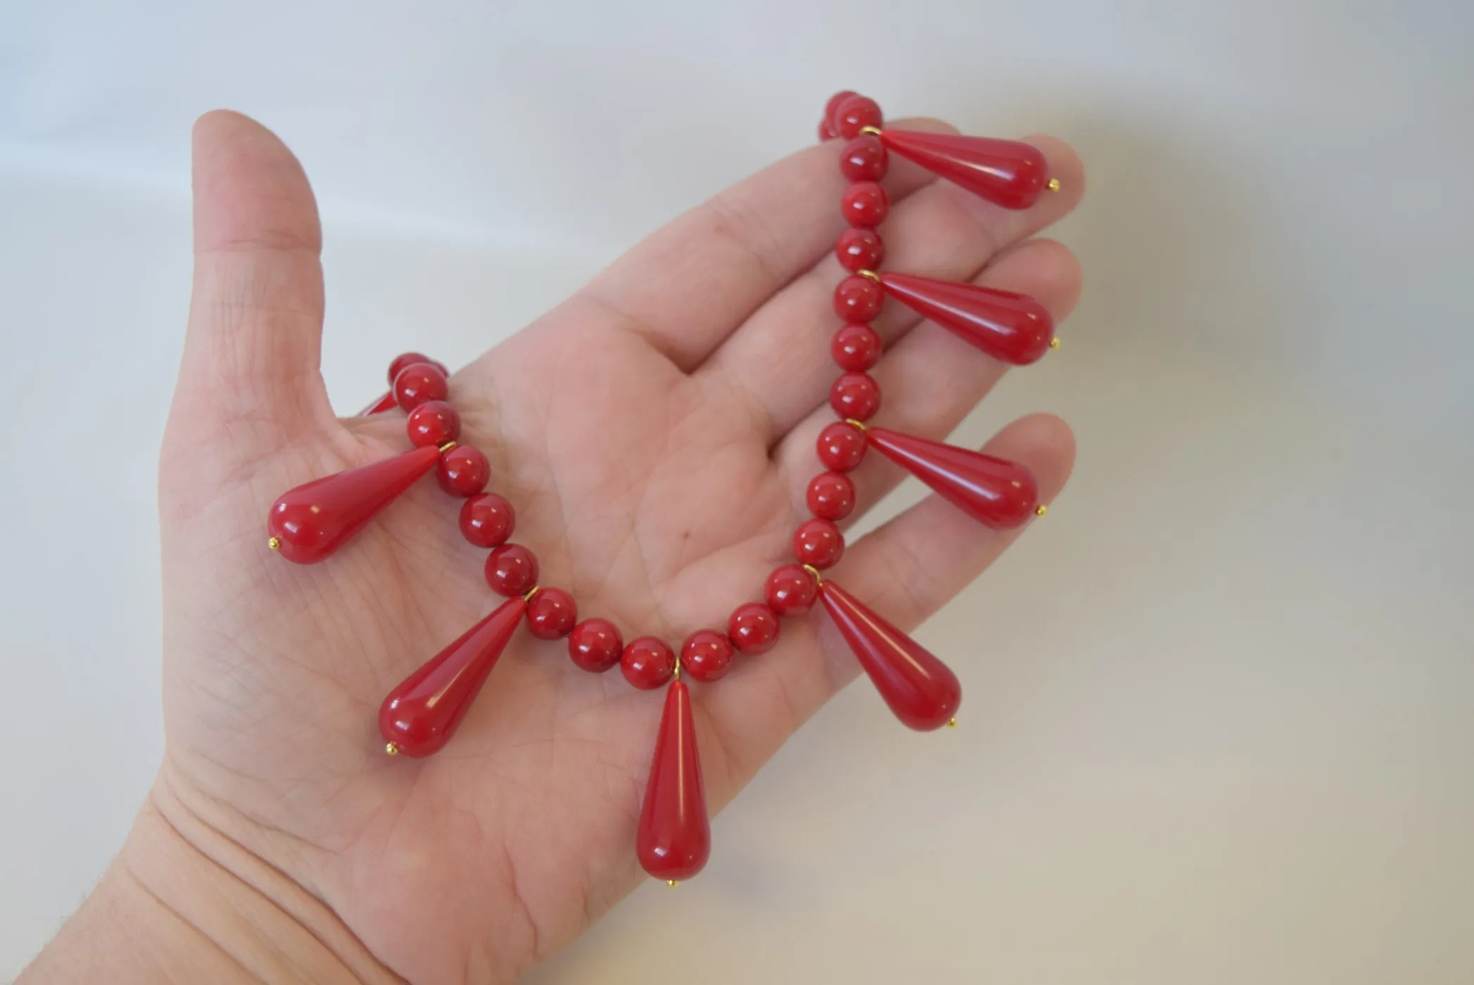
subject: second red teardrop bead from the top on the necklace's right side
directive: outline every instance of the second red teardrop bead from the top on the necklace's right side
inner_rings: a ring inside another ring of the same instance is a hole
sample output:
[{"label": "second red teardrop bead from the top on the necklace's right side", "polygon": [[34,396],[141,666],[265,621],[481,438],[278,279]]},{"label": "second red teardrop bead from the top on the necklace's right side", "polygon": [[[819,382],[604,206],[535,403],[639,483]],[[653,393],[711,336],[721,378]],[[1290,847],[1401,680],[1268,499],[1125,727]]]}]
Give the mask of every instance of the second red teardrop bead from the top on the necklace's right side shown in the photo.
[{"label": "second red teardrop bead from the top on the necklace's right side", "polygon": [[1027,294],[915,274],[881,274],[892,297],[995,359],[1027,365],[1049,350],[1054,318]]}]

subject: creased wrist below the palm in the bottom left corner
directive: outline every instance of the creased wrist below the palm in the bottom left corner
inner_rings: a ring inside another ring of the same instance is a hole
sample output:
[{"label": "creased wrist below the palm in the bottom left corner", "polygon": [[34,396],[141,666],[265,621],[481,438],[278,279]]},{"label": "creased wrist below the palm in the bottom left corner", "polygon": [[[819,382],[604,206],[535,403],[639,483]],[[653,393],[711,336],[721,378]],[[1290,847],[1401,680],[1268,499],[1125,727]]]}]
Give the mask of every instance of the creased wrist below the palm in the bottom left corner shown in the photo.
[{"label": "creased wrist below the palm in the bottom left corner", "polygon": [[401,982],[338,916],[161,779],[102,880],[18,981]]}]

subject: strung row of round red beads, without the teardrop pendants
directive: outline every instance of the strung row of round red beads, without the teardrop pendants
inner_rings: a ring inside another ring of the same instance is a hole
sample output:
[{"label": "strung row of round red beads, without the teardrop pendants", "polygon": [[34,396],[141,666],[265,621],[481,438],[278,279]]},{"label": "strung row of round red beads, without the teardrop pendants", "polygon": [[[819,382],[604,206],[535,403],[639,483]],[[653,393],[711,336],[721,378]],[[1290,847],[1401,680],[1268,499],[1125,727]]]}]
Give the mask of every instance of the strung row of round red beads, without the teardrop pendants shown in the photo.
[{"label": "strung row of round red beads, without the teardrop pendants", "polygon": [[[578,621],[578,604],[559,587],[538,585],[537,555],[523,545],[509,543],[516,529],[511,504],[483,492],[491,477],[486,456],[460,439],[460,414],[447,400],[450,386],[445,367],[422,353],[408,352],[391,362],[389,381],[394,405],[408,414],[405,428],[416,446],[441,449],[436,480],[453,495],[466,498],[460,509],[460,530],[467,542],[488,548],[486,585],[506,598],[523,596],[529,632],[547,640],[567,638],[572,661],[591,673],[619,664],[635,688],[653,691],[666,685],[678,668],[700,682],[715,682],[731,668],[734,652],[762,654],[778,640],[778,617],[808,612],[818,598],[820,571],[833,567],[845,554],[845,536],[837,521],[855,508],[855,486],[845,474],[865,455],[864,421],[880,409],[880,387],[867,371],[881,355],[881,340],[870,321],[883,302],[879,278],[873,272],[884,258],[884,243],[876,233],[889,212],[889,199],[879,184],[889,166],[884,146],[871,133],[880,127],[880,107],[864,96],[840,93],[830,100],[827,116],[831,133],[849,137],[840,155],[840,171],[850,180],[840,199],[849,222],[834,246],[836,258],[850,271],[834,289],[834,312],[843,325],[834,333],[831,356],[843,371],[830,390],[830,406],[842,418],[822,430],[818,456],[828,471],[818,474],[805,501],[812,520],[793,532],[793,557],[797,564],[775,568],[764,583],[764,601],[738,605],[727,620],[727,632],[702,629],[681,645],[680,657],[662,639],[640,636],[624,642],[619,627],[606,618]],[[825,124],[828,127],[828,124]],[[370,412],[388,409],[380,400]]]}]

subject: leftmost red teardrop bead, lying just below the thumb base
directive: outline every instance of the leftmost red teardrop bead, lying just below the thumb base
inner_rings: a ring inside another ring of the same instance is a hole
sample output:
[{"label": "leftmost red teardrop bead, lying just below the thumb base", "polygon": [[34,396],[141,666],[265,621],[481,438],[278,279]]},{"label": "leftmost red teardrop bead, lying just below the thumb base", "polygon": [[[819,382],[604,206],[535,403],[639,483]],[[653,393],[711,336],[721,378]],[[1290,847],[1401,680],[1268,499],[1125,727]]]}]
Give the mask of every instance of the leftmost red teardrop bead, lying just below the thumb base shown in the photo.
[{"label": "leftmost red teardrop bead, lying just below the thumb base", "polygon": [[295,564],[321,561],[430,471],[439,456],[436,448],[414,448],[289,489],[267,514],[277,551]]}]

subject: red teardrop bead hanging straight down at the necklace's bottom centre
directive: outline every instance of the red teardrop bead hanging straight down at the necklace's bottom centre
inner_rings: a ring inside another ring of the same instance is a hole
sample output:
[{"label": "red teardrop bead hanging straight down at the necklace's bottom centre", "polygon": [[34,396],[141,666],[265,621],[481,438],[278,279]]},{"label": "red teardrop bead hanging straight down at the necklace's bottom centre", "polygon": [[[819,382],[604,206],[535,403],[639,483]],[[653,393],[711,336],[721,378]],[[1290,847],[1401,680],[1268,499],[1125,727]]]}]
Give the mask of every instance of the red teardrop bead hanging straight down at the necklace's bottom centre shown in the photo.
[{"label": "red teardrop bead hanging straight down at the necklace's bottom centre", "polygon": [[672,682],[665,693],[635,854],[646,872],[668,882],[690,879],[712,854],[691,692],[681,680]]}]

